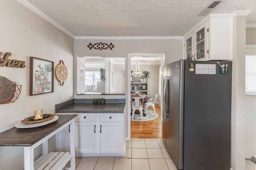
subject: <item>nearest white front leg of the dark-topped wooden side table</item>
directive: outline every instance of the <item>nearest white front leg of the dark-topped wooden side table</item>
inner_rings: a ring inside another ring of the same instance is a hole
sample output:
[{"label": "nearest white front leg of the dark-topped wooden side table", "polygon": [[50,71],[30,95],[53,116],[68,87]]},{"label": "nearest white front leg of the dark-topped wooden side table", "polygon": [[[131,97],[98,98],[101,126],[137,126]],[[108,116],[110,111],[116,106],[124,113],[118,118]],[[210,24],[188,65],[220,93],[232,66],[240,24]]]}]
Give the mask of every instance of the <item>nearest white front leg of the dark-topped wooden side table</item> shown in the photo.
[{"label": "nearest white front leg of the dark-topped wooden side table", "polygon": [[34,170],[34,149],[24,147],[24,170]]}]

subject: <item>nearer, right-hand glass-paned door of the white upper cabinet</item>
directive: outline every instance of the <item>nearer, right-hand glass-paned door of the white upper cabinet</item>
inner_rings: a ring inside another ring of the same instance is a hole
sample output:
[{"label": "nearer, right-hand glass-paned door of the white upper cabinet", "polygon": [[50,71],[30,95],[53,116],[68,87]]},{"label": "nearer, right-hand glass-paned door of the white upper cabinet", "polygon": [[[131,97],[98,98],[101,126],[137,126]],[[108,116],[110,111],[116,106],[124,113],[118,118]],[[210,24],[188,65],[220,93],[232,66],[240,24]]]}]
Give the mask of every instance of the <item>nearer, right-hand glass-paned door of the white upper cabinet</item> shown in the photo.
[{"label": "nearer, right-hand glass-paned door of the white upper cabinet", "polygon": [[195,31],[195,56],[196,60],[206,61],[207,51],[207,24],[202,25]]}]

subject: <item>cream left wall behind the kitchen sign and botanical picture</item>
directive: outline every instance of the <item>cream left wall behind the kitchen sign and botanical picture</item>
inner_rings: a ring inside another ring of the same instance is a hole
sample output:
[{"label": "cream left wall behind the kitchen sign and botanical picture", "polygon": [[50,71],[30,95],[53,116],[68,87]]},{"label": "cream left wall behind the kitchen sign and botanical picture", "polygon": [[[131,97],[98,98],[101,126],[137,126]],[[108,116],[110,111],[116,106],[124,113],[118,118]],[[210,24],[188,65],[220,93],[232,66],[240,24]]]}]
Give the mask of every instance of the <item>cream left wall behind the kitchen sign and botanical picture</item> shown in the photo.
[{"label": "cream left wall behind the kitchen sign and botanical picture", "polygon": [[[1,0],[0,51],[11,52],[9,59],[25,61],[25,68],[0,67],[4,76],[22,85],[20,97],[11,104],[0,104],[0,132],[14,127],[25,117],[34,115],[35,109],[55,113],[55,104],[73,97],[74,39],[15,0]],[[68,69],[64,86],[54,78],[54,93],[29,96],[29,57],[54,61],[54,68],[63,60]],[[61,100],[64,94],[65,100]],[[54,140],[51,140],[55,146]],[[40,146],[41,147],[41,146]],[[54,149],[52,147],[51,149]],[[41,150],[36,149],[36,155]],[[0,147],[0,169],[24,169],[23,147]]]}]

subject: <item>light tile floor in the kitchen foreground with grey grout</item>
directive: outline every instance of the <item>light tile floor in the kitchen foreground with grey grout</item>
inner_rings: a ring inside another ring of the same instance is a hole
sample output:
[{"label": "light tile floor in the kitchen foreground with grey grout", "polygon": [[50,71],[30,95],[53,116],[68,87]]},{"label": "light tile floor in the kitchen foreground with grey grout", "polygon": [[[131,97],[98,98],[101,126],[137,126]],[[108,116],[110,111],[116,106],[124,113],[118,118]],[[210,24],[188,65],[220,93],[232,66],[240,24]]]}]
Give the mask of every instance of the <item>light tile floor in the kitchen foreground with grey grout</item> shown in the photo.
[{"label": "light tile floor in the kitchen foreground with grey grout", "polygon": [[161,139],[132,139],[125,156],[76,157],[76,170],[176,170]]}]

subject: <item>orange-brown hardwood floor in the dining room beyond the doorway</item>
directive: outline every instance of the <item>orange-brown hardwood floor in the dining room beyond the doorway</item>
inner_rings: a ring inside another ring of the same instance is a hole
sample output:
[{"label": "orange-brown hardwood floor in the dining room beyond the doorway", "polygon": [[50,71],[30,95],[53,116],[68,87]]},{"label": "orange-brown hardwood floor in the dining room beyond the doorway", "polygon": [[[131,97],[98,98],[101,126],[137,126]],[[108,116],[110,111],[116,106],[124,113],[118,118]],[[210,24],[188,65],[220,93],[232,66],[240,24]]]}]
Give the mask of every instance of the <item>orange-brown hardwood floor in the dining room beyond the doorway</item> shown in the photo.
[{"label": "orange-brown hardwood floor in the dining room beyond the doorway", "polygon": [[[144,106],[143,106],[144,108]],[[152,107],[148,107],[152,110]],[[161,138],[161,108],[155,104],[158,117],[150,121],[131,121],[132,139],[160,139]]]}]

